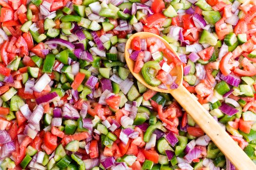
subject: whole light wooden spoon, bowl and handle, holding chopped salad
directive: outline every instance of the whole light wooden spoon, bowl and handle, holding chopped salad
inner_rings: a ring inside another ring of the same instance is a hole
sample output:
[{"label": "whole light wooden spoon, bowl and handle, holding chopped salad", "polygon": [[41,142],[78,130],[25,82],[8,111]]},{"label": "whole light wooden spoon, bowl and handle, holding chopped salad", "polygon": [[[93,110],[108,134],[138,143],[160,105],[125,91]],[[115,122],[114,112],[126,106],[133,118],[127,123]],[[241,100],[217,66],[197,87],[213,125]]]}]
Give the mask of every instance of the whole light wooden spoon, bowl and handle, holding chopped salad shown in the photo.
[{"label": "whole light wooden spoon, bowl and handle, holding chopped salad", "polygon": [[[134,77],[149,89],[158,92],[170,93],[175,98],[175,100],[186,110],[186,112],[196,121],[196,123],[201,127],[201,129],[212,139],[212,141],[217,145],[220,151],[225,154],[225,156],[234,164],[234,166],[238,170],[256,170],[256,165],[253,163],[253,161],[246,155],[246,153],[243,152],[243,150],[236,144],[236,142],[222,129],[222,127],[209,114],[209,112],[205,110],[204,107],[199,102],[197,102],[195,96],[193,96],[182,85],[182,66],[178,66],[175,68],[177,75],[176,83],[177,85],[179,85],[177,89],[164,90],[158,87],[153,87],[145,82],[141,73],[133,72],[135,62],[130,59],[128,49],[131,48],[131,41],[134,37],[156,37],[165,44],[166,48],[168,48],[174,54],[177,55],[177,53],[172,49],[169,43],[156,34],[147,32],[133,34],[126,42],[125,60],[128,68],[130,69]],[[167,60],[170,59],[167,58]]]}]

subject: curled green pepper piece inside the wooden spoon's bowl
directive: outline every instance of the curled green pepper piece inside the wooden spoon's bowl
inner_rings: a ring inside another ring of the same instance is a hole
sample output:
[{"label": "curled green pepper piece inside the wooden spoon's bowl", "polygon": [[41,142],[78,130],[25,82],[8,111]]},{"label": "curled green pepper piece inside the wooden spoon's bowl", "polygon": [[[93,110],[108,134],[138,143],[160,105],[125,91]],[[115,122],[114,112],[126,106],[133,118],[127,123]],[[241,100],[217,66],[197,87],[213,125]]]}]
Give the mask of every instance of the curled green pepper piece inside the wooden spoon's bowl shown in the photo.
[{"label": "curled green pepper piece inside the wooden spoon's bowl", "polygon": [[[150,73],[151,69],[155,70],[154,74]],[[156,74],[159,69],[161,69],[161,67],[159,63],[156,61],[149,61],[143,65],[143,67],[141,68],[141,72],[147,84],[154,87],[161,84],[161,82],[158,79],[156,79]]]}]

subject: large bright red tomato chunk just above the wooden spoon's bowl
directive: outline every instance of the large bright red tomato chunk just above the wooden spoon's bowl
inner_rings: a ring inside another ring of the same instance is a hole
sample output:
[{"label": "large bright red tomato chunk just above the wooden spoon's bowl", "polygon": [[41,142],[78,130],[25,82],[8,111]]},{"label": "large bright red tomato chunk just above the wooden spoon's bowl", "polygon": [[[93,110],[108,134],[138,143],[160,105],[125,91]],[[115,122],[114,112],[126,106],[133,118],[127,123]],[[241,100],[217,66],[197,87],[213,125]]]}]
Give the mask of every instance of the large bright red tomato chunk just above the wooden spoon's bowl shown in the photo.
[{"label": "large bright red tomato chunk just above the wooden spoon's bowl", "polygon": [[153,14],[152,16],[149,16],[145,20],[145,25],[149,28],[151,27],[157,27],[162,26],[163,22],[165,21],[166,17],[160,13]]}]

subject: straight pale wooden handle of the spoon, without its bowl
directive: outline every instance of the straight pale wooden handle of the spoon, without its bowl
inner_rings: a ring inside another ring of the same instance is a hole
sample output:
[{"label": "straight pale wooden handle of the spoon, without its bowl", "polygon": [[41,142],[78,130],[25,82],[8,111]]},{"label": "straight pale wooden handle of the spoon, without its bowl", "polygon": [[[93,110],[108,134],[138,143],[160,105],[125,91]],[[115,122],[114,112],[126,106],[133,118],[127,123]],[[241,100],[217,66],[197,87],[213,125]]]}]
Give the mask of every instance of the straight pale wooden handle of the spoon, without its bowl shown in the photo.
[{"label": "straight pale wooden handle of the spoon, without its bowl", "polygon": [[253,161],[183,85],[171,94],[238,170],[256,170]]}]

